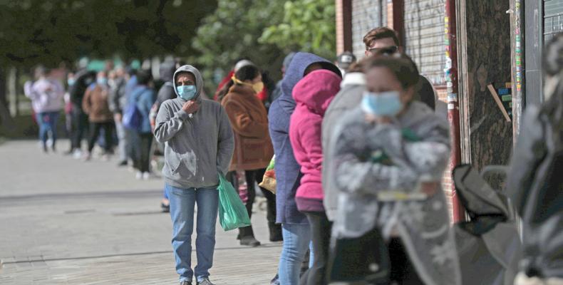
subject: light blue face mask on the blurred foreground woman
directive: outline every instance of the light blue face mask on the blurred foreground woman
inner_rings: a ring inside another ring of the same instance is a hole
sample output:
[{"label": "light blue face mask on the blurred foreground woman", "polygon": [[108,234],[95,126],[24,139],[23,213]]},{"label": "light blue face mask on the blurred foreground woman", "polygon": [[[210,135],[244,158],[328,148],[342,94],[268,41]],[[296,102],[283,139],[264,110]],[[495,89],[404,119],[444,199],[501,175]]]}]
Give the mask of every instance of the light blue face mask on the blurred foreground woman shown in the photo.
[{"label": "light blue face mask on the blurred foreground woman", "polygon": [[363,94],[361,108],[364,112],[378,117],[394,117],[403,108],[397,91]]}]

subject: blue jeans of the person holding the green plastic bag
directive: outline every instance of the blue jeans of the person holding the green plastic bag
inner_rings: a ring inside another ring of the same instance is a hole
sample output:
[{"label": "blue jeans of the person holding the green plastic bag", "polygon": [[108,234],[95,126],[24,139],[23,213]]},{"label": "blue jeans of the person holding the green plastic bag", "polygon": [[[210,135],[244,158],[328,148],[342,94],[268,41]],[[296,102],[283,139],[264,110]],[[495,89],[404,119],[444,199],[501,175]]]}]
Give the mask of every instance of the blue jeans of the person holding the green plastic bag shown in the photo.
[{"label": "blue jeans of the person holding the green plastic bag", "polygon": [[194,230],[194,207],[197,204],[197,237],[195,249],[197,281],[207,278],[213,265],[215,251],[215,224],[219,209],[217,188],[182,189],[165,185],[170,197],[170,217],[172,217],[172,248],[176,259],[176,272],[180,282],[192,281],[192,233]]}]

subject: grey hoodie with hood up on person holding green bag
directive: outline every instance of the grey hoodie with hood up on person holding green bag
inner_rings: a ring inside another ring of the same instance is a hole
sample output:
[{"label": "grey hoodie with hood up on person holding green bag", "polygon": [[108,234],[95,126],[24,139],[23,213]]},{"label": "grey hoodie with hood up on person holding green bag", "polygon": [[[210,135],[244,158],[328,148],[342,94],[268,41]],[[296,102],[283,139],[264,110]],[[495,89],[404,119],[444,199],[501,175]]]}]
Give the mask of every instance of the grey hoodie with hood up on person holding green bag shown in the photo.
[{"label": "grey hoodie with hood up on person holding green bag", "polygon": [[[201,98],[203,80],[193,66],[182,66],[174,73],[174,90],[178,73],[189,72],[195,76],[200,104],[197,112],[182,110],[186,102],[178,97],[160,105],[156,117],[155,138],[165,144],[165,165],[162,175],[173,187],[202,188],[219,184],[219,172],[227,173],[234,150],[234,139],[221,105]],[[176,94],[177,95],[177,94]]]}]

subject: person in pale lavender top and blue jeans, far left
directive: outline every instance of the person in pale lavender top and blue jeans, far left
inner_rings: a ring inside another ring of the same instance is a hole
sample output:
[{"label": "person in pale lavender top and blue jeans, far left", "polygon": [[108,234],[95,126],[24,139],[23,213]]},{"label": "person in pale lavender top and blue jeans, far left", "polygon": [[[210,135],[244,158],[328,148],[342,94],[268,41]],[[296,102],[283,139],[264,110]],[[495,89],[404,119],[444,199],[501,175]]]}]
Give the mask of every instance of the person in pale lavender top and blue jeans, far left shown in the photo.
[{"label": "person in pale lavender top and blue jeans, far left", "polygon": [[27,84],[26,96],[31,99],[39,125],[39,140],[43,152],[48,152],[48,134],[51,133],[51,150],[56,151],[57,121],[63,108],[64,88],[61,83],[47,77],[47,70],[39,66],[35,70],[37,81]]}]

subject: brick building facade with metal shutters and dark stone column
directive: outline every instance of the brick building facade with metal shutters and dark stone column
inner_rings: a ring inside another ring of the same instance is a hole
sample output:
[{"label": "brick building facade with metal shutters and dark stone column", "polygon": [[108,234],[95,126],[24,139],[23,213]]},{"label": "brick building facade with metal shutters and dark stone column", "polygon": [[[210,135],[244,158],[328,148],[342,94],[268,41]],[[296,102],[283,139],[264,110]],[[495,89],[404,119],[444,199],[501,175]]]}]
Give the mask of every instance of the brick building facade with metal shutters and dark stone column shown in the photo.
[{"label": "brick building facade with metal shutters and dark stone column", "polygon": [[[449,17],[447,6],[454,9]],[[438,98],[459,111],[449,120],[459,122],[452,126],[460,136],[460,163],[480,170],[508,164],[520,115],[543,101],[542,47],[563,31],[563,0],[336,0],[336,7],[338,53],[362,58],[364,34],[378,26],[395,29]],[[450,71],[455,82],[448,80]],[[453,195],[450,177],[448,171],[444,188]],[[502,188],[500,177],[490,183]]]}]

